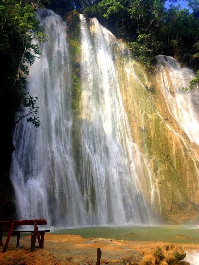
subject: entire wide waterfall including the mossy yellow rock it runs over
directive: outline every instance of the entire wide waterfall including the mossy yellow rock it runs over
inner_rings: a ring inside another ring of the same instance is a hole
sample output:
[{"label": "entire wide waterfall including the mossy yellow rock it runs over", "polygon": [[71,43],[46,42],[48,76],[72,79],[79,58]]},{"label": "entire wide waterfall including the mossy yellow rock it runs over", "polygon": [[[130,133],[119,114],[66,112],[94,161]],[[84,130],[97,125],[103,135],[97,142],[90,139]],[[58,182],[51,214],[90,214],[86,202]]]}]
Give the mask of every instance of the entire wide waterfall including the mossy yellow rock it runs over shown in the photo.
[{"label": "entire wide waterfall including the mossy yellow rock it runs over", "polygon": [[18,218],[150,224],[154,214],[172,220],[173,204],[198,205],[198,90],[182,89],[192,70],[158,55],[149,78],[96,18],[76,14],[71,30],[70,16],[37,15],[49,38],[27,80],[41,126],[23,119],[14,130]]}]

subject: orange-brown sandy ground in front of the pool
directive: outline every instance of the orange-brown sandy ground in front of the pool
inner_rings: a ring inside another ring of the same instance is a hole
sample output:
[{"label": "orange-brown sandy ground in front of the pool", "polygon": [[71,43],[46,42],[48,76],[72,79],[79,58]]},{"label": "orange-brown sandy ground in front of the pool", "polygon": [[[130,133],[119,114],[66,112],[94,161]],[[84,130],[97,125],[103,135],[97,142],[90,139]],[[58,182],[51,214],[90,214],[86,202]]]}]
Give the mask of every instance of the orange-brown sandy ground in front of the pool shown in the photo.
[{"label": "orange-brown sandy ground in front of the pool", "polygon": [[[6,237],[3,237],[3,244],[5,241]],[[16,249],[16,237],[11,237],[6,253],[0,253],[0,265],[94,265],[97,248],[102,251],[101,264],[103,265],[189,264],[178,261],[176,258],[183,258],[185,255],[183,249],[199,249],[199,244],[184,244],[181,248],[177,244],[162,242],[45,234],[44,249],[37,248],[30,252],[30,241],[30,236],[21,237],[20,247]],[[157,247],[162,249],[163,259],[155,256]]]}]

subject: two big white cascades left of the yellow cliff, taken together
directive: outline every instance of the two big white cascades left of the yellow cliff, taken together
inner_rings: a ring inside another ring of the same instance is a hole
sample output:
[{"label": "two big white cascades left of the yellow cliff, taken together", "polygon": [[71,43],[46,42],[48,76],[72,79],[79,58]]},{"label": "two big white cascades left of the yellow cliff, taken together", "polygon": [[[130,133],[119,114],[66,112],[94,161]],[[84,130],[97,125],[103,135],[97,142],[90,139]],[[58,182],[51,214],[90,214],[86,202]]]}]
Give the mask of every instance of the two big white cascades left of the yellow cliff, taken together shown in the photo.
[{"label": "two big white cascades left of the yellow cliff, taken together", "polygon": [[[49,41],[30,67],[28,90],[39,98],[42,127],[22,121],[14,132],[11,178],[18,217],[45,217],[65,227],[149,223],[150,202],[139,181],[147,165],[131,138],[115,67],[124,45],[97,19],[90,31],[80,15],[81,99],[74,118],[66,25],[50,10],[39,11],[38,18]],[[74,119],[79,162],[73,157]]]}]

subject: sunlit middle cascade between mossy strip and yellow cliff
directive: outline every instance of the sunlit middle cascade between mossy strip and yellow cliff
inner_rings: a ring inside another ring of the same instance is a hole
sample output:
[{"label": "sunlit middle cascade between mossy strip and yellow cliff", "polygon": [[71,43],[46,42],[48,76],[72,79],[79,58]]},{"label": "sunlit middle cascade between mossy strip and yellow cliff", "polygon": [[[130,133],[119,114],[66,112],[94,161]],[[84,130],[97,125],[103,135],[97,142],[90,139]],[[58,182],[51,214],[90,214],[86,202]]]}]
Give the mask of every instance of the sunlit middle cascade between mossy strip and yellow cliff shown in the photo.
[{"label": "sunlit middle cascade between mossy strip and yellow cliff", "polygon": [[124,47],[97,19],[81,25],[80,185],[89,223],[147,223],[149,213],[137,175],[132,142],[114,60]]}]

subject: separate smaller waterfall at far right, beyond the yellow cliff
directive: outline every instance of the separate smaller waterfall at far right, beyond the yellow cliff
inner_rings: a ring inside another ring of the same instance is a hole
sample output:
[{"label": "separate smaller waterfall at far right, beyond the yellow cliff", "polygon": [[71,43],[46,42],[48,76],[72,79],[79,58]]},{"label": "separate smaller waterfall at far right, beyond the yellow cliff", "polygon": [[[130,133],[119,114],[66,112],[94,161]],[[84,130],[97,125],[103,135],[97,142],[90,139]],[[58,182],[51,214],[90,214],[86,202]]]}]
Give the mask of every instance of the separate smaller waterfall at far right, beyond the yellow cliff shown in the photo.
[{"label": "separate smaller waterfall at far right, beyond the yellow cliff", "polygon": [[186,92],[189,82],[194,78],[193,71],[182,68],[170,56],[158,55],[158,71],[168,110],[178,121],[192,142],[199,145],[198,91]]}]

